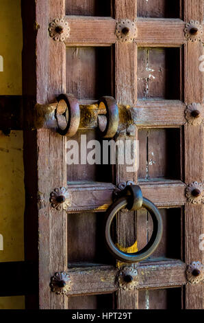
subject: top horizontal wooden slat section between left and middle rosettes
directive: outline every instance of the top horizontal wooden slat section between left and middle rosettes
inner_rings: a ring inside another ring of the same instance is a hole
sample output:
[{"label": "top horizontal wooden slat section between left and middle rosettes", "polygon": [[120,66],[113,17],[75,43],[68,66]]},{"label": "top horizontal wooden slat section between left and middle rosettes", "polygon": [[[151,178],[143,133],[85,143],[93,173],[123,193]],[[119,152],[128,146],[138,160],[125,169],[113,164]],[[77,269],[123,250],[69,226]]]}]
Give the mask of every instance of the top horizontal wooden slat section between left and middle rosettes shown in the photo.
[{"label": "top horizontal wooden slat section between left and middle rosettes", "polygon": [[116,42],[116,21],[110,17],[66,16],[71,28],[66,45],[111,45]]}]

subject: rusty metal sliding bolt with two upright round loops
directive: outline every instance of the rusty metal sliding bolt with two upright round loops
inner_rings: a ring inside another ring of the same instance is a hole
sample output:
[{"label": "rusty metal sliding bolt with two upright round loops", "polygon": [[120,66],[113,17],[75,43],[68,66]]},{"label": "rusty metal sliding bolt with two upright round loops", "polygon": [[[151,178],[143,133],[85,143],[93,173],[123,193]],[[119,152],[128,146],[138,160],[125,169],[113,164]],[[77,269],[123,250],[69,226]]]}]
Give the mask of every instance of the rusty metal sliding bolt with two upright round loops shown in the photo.
[{"label": "rusty metal sliding bolt with two upright round loops", "polygon": [[[125,113],[123,107],[120,115]],[[118,131],[118,105],[111,96],[103,96],[94,104],[79,105],[73,94],[64,93],[58,96],[57,102],[37,103],[33,114],[31,129],[47,128],[67,137],[73,137],[78,129],[97,129],[101,137],[114,137]],[[130,121],[126,120],[129,126]]]}]

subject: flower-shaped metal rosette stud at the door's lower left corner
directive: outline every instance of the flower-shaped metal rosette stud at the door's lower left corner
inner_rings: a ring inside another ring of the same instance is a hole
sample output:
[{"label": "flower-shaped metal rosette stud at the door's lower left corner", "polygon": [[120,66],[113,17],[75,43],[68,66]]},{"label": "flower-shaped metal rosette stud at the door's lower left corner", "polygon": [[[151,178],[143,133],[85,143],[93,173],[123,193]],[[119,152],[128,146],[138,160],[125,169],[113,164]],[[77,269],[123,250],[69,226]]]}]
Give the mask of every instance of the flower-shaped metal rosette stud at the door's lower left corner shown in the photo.
[{"label": "flower-shaped metal rosette stud at the door's lower left corner", "polygon": [[51,277],[51,291],[56,294],[66,295],[71,290],[71,278],[65,271],[59,271]]}]

